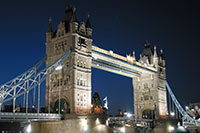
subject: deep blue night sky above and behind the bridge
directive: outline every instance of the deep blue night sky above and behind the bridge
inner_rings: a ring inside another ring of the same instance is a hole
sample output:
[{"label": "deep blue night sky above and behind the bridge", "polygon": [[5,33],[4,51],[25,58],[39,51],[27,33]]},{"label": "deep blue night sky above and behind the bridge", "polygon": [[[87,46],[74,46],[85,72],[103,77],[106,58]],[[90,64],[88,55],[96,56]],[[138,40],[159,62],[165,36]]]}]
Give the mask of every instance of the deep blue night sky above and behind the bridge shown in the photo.
[{"label": "deep blue night sky above and behind the bridge", "polygon": [[[200,2],[156,0],[7,0],[0,2],[0,84],[25,72],[45,56],[49,16],[57,27],[66,7],[79,19],[90,13],[93,43],[136,58],[149,40],[162,48],[167,80],[183,106],[200,102]],[[92,90],[108,96],[109,112],[133,112],[132,80],[92,69]]]}]

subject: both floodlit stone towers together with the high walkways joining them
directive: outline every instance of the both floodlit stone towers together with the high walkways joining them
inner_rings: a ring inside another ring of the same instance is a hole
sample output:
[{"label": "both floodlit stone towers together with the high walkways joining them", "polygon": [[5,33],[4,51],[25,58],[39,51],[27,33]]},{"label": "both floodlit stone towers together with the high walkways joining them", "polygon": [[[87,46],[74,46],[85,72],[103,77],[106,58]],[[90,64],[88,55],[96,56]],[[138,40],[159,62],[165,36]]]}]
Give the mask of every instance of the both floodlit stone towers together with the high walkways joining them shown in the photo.
[{"label": "both floodlit stone towers together with the high walkways joining them", "polygon": [[[92,45],[89,16],[79,22],[75,10],[68,7],[57,30],[49,21],[46,33],[46,65],[54,63],[71,49],[62,69],[46,80],[46,106],[55,112],[89,114],[91,112],[91,67],[133,79],[134,109],[138,118],[166,118],[166,75],[163,53],[157,55],[147,42],[140,59],[123,57]],[[147,116],[148,114],[151,116]]]}]

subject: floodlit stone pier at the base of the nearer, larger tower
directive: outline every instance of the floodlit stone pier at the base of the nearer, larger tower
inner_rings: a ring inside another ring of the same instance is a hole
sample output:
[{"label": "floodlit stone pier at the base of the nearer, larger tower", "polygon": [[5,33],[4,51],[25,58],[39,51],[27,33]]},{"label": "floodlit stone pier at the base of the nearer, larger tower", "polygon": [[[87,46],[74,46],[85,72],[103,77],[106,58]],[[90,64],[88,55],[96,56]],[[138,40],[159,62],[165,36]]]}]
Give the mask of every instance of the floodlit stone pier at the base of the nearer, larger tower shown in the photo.
[{"label": "floodlit stone pier at the base of the nearer, larger tower", "polygon": [[32,133],[112,133],[104,115],[64,115],[64,120],[31,122]]}]

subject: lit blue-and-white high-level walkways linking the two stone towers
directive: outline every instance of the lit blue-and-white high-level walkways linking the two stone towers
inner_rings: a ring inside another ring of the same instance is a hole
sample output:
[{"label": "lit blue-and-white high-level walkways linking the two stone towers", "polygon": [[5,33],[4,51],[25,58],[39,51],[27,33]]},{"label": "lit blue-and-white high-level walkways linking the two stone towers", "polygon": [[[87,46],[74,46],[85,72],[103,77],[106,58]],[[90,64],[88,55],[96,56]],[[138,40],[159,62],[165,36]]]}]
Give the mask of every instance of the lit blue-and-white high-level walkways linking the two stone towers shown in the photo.
[{"label": "lit blue-and-white high-level walkways linking the two stone towers", "polygon": [[132,63],[128,63],[126,57],[96,46],[92,46],[92,67],[130,78],[139,77],[141,73],[157,73],[156,68],[153,66],[145,66],[134,60]]}]

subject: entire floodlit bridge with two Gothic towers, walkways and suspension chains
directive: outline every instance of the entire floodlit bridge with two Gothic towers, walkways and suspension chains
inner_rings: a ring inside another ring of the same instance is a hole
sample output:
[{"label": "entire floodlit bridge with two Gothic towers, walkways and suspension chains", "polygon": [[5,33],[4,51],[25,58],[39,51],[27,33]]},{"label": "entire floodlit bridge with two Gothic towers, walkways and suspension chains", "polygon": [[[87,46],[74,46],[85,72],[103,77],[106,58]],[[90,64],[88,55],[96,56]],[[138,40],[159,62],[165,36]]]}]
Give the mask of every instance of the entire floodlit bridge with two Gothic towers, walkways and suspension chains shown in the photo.
[{"label": "entire floodlit bridge with two Gothic towers, walkways and suspension chains", "polygon": [[[99,48],[92,43],[92,26],[79,22],[75,10],[69,7],[57,30],[49,20],[46,32],[46,57],[34,67],[0,86],[1,111],[11,101],[12,113],[1,112],[3,119],[60,120],[61,114],[87,115],[91,113],[91,69],[97,68],[132,78],[134,112],[137,119],[166,119],[175,108],[186,121],[200,126],[199,122],[182,108],[166,81],[163,51],[157,54],[146,42],[140,59],[135,52],[127,57]],[[41,69],[42,64],[46,67]],[[41,83],[45,82],[45,96],[41,96]],[[33,91],[34,103],[29,105]],[[167,98],[168,96],[168,98]],[[41,98],[45,97],[45,113],[41,112]],[[16,100],[24,101],[25,112],[16,110]],[[37,99],[36,99],[37,98]],[[167,99],[171,100],[167,104]],[[28,108],[37,108],[35,113]],[[168,108],[169,107],[169,108]]]}]

